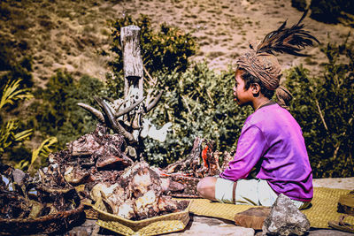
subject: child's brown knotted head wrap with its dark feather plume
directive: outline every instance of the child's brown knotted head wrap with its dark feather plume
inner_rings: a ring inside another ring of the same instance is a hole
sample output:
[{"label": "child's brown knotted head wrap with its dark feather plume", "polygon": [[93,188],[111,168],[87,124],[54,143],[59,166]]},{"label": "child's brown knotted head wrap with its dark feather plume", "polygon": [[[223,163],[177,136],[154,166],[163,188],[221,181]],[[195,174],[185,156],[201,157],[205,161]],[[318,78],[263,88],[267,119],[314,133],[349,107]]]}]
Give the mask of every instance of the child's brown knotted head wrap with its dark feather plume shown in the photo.
[{"label": "child's brown knotted head wrap with its dark feather plume", "polygon": [[286,27],[285,20],[277,30],[266,34],[257,46],[250,44],[250,50],[238,57],[236,61],[240,68],[261,80],[267,89],[276,90],[277,103],[284,108],[288,108],[292,97],[287,88],[279,85],[281,65],[274,52],[305,57],[307,55],[300,51],[307,46],[313,46],[314,42],[319,42],[310,32],[303,29],[304,24],[301,22],[306,14],[307,11],[293,27]]}]

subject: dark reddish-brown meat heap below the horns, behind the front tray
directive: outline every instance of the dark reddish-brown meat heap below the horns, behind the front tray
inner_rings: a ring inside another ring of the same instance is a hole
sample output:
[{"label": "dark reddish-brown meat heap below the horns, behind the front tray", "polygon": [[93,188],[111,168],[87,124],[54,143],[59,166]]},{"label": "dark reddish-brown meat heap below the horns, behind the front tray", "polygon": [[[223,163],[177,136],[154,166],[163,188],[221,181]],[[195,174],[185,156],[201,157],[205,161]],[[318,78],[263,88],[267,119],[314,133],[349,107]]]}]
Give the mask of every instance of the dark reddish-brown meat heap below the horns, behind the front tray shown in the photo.
[{"label": "dark reddish-brown meat heap below the horns, behind the front tray", "polygon": [[[114,183],[133,164],[126,152],[127,146],[119,134],[109,134],[104,126],[97,125],[93,133],[68,143],[65,150],[50,154],[50,164],[41,172],[52,176],[44,179],[50,186],[58,185],[58,180],[63,178],[71,186]],[[57,173],[53,175],[53,171]]]}]

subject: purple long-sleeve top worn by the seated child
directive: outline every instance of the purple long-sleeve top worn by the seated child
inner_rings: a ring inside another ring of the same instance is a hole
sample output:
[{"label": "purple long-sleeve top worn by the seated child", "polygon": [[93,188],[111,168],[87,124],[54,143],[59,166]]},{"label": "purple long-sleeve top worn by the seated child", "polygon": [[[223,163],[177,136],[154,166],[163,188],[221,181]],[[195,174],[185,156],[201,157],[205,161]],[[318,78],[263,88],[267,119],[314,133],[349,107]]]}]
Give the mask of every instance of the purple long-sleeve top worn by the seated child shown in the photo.
[{"label": "purple long-sleeve top worn by the seated child", "polygon": [[277,103],[248,117],[237,142],[235,158],[220,173],[223,179],[245,179],[261,162],[258,179],[266,179],[277,194],[303,202],[312,200],[312,169],[296,119]]}]

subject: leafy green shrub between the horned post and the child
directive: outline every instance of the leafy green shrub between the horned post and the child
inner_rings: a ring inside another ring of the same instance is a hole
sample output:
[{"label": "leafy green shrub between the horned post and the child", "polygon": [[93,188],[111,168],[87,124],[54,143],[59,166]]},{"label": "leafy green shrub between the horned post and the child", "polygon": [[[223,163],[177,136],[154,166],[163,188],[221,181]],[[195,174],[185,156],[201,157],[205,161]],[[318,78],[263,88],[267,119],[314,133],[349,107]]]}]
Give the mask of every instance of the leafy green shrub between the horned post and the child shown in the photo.
[{"label": "leafy green shrub between the horned post and the child", "polygon": [[187,156],[196,136],[216,141],[220,151],[235,149],[250,109],[235,105],[232,70],[217,74],[206,64],[195,64],[186,72],[157,76],[165,94],[150,119],[158,126],[173,126],[165,142],[144,140],[150,163],[163,166]]}]

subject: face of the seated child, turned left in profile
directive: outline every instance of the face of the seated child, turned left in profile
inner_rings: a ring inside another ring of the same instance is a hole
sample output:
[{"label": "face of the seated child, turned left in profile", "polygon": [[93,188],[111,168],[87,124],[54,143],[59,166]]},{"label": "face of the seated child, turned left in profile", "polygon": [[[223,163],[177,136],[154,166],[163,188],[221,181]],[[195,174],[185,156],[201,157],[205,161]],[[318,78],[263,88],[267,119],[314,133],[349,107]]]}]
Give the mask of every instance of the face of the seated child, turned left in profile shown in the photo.
[{"label": "face of the seated child, turned left in profile", "polygon": [[248,105],[251,103],[251,99],[253,98],[251,89],[244,88],[244,80],[242,79],[242,70],[236,70],[235,72],[235,86],[234,90],[234,101],[240,106]]}]

